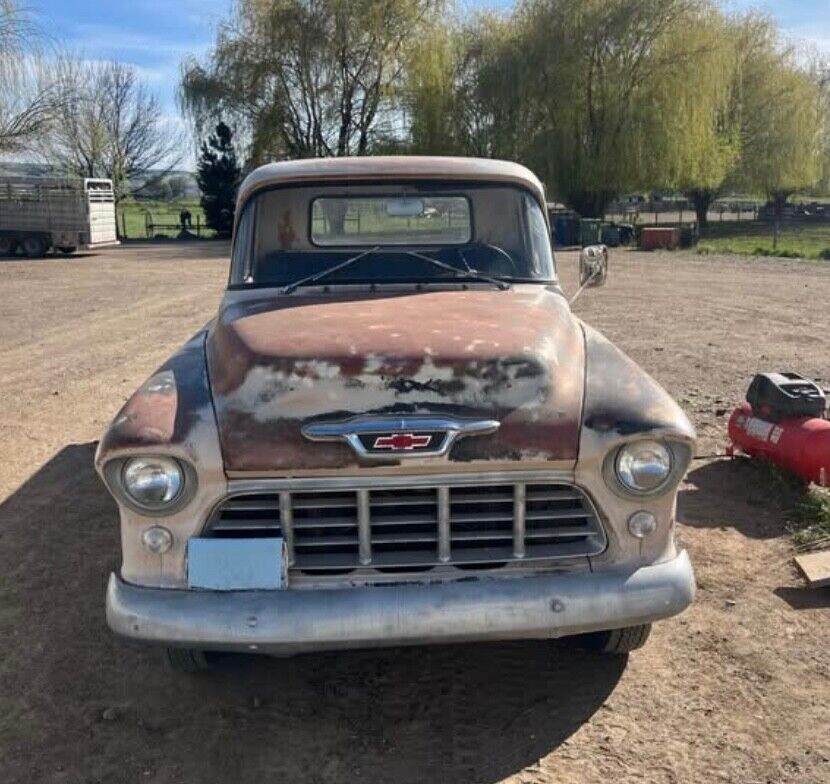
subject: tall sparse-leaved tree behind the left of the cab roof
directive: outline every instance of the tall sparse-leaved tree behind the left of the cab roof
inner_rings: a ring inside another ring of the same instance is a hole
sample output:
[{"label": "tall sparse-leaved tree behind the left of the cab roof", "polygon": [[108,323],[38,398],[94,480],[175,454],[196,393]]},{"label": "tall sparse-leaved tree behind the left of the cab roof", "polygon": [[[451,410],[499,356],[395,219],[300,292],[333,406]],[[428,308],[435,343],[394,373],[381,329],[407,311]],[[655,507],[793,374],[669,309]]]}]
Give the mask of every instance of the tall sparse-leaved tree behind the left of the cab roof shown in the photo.
[{"label": "tall sparse-leaved tree behind the left of the cab roof", "polygon": [[363,155],[399,122],[408,48],[440,0],[240,0],[181,98],[197,130],[226,118],[250,163]]}]

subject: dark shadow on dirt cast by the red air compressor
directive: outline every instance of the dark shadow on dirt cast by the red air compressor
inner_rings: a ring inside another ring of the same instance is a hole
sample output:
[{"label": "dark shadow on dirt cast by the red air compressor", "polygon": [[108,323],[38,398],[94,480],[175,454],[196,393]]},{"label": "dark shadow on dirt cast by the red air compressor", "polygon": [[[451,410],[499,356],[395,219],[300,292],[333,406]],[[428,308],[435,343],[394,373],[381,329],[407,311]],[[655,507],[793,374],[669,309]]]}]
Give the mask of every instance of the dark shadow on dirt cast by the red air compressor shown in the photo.
[{"label": "dark shadow on dirt cast by the red air compressor", "polygon": [[779,537],[786,514],[770,476],[745,458],[698,463],[679,493],[678,519],[694,528],[728,526],[753,539]]}]

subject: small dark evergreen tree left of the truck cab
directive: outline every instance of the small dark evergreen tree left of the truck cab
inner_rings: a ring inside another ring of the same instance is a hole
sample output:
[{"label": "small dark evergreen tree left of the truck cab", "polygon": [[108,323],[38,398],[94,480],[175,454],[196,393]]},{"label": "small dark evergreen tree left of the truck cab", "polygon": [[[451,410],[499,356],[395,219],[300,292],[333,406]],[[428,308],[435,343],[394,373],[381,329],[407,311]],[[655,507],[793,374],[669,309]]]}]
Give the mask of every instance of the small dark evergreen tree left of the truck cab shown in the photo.
[{"label": "small dark evergreen tree left of the truck cab", "polygon": [[242,176],[232,139],[233,132],[220,121],[215,133],[202,142],[197,165],[205,220],[218,237],[231,236],[236,190]]}]

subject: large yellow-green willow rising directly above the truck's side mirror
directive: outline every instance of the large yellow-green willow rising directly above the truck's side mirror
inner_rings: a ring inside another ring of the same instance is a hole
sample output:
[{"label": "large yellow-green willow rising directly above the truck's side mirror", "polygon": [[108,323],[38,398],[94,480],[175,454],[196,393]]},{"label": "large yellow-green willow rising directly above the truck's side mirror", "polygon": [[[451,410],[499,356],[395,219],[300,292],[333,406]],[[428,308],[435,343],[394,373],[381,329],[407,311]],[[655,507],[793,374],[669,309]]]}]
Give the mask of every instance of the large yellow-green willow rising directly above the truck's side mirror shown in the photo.
[{"label": "large yellow-green willow rising directly above the truck's side mirror", "polygon": [[617,194],[661,176],[662,151],[644,131],[660,81],[694,66],[696,47],[676,33],[700,5],[526,0],[517,10],[516,52],[526,66],[513,90],[531,112],[522,157],[581,214],[602,215]]}]

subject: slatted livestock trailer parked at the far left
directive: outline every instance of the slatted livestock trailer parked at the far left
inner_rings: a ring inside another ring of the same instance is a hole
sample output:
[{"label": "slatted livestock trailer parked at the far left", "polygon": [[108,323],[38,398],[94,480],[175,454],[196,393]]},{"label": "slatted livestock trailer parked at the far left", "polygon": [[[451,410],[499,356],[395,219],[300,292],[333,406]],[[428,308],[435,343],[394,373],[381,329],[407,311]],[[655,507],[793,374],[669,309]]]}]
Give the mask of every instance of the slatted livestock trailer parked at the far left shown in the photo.
[{"label": "slatted livestock trailer parked at the far left", "polygon": [[0,178],[0,256],[117,244],[112,180]]}]

